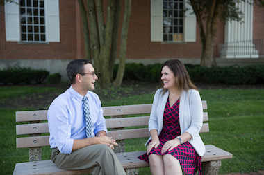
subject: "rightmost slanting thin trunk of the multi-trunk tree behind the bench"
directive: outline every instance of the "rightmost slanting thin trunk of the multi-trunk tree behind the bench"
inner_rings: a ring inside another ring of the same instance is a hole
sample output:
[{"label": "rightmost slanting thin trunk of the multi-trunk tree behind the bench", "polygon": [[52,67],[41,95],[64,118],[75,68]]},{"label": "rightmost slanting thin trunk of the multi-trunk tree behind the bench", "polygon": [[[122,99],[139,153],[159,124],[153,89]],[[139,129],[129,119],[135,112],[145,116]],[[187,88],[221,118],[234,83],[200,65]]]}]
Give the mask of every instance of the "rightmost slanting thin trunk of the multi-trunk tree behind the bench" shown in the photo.
[{"label": "rightmost slanting thin trunk of the multi-trunk tree behind the bench", "polygon": [[117,77],[113,82],[113,86],[120,86],[124,76],[124,69],[126,66],[126,44],[127,33],[129,31],[129,17],[131,15],[131,0],[125,1],[125,13],[122,26],[121,41],[120,41],[120,54],[119,54],[119,67]]}]

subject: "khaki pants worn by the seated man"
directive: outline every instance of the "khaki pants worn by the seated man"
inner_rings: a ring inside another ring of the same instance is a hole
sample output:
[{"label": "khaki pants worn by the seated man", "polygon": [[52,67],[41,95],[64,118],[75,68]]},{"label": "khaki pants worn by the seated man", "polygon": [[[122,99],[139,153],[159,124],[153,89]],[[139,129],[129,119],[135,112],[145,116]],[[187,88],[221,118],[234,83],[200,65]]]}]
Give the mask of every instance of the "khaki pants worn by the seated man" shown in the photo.
[{"label": "khaki pants worn by the seated man", "polygon": [[51,160],[60,169],[87,169],[97,175],[126,174],[117,156],[107,145],[90,145],[72,151],[72,154],[63,154],[58,149],[53,149]]}]

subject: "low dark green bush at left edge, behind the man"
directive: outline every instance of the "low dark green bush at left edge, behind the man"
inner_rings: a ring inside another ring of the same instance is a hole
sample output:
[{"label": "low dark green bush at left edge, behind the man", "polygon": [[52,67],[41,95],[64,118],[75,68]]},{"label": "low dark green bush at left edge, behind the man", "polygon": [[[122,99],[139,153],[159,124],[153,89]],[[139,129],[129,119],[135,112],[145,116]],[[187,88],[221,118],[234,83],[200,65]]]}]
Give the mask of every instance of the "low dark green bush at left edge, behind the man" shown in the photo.
[{"label": "low dark green bush at left edge, behind the man", "polygon": [[0,83],[3,84],[41,84],[49,75],[49,71],[21,68],[19,66],[0,70]]}]

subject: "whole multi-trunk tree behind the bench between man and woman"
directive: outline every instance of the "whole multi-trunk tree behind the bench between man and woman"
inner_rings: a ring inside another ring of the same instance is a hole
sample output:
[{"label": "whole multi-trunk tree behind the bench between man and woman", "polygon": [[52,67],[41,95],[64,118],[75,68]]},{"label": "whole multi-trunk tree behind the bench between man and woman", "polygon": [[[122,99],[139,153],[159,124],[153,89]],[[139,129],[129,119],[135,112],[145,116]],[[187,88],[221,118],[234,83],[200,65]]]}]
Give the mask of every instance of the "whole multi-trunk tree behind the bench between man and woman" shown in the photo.
[{"label": "whole multi-trunk tree behind the bench between man and woman", "polygon": [[97,0],[96,2],[95,0],[87,0],[87,8],[85,8],[83,0],[78,0],[78,2],[83,21],[86,59],[94,59],[100,86],[120,86],[124,76],[131,0],[125,0],[124,20],[120,39],[119,68],[115,80],[113,80],[113,70],[117,56],[122,0],[108,0],[106,19],[104,19],[103,0]]}]

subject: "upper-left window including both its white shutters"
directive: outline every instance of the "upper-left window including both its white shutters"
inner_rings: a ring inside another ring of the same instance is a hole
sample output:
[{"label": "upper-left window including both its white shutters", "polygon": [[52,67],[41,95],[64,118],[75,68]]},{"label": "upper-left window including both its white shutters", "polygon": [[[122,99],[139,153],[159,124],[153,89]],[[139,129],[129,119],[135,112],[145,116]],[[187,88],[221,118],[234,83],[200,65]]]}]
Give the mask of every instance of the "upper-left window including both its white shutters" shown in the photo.
[{"label": "upper-left window including both its white shutters", "polygon": [[59,0],[13,1],[5,3],[7,42],[60,42]]}]

